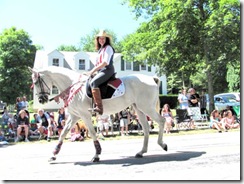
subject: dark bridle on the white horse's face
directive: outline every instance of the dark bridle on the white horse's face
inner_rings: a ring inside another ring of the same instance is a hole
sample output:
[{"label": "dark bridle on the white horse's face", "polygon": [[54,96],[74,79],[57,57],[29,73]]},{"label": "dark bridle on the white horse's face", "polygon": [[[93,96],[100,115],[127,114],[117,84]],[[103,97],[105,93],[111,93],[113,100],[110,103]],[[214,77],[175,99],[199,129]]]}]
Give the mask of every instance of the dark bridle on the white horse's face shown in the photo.
[{"label": "dark bridle on the white horse's face", "polygon": [[[35,80],[33,80],[35,81]],[[41,104],[48,102],[48,95],[50,95],[50,88],[46,84],[46,82],[41,78],[40,74],[37,73],[37,80],[34,82],[35,85],[39,85],[40,92],[38,95],[38,101]],[[47,91],[45,91],[47,89]]]}]

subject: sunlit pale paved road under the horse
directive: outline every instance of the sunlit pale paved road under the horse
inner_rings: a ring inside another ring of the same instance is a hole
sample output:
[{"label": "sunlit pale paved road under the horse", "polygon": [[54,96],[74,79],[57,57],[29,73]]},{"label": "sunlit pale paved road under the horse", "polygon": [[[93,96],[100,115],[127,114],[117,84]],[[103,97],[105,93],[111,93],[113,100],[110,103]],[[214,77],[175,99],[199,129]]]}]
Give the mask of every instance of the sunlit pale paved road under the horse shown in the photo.
[{"label": "sunlit pale paved road under the horse", "polygon": [[164,136],[168,152],[150,137],[148,153],[134,158],[142,139],[101,140],[101,162],[93,143],[64,143],[48,163],[56,141],[0,147],[2,180],[240,180],[240,132]]}]

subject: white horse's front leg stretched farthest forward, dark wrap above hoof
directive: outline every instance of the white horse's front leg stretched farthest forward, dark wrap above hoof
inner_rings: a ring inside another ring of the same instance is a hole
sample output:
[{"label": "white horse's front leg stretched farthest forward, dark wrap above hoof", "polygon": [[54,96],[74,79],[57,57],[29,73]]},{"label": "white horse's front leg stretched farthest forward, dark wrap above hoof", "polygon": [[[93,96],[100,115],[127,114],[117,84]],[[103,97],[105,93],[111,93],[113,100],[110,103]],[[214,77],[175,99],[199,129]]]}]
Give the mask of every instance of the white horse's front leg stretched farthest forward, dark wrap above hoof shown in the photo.
[{"label": "white horse's front leg stretched farthest forward, dark wrap above hoof", "polygon": [[61,135],[59,136],[58,144],[55,146],[53,150],[53,156],[48,160],[49,162],[56,160],[56,155],[61,150],[61,147],[63,145],[63,140],[65,139],[65,137],[67,136],[67,134],[69,133],[70,129],[73,127],[75,122],[76,121],[72,121],[70,117],[67,119],[66,124],[63,130],[61,131]]}]

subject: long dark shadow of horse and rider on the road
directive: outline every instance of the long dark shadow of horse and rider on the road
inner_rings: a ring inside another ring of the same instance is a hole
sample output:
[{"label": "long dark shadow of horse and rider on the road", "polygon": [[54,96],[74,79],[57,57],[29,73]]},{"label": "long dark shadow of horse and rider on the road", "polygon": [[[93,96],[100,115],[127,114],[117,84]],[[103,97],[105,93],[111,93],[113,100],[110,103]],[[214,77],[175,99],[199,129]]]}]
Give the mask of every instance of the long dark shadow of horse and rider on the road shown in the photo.
[{"label": "long dark shadow of horse and rider on the road", "polygon": [[187,161],[192,158],[200,157],[206,152],[197,151],[179,151],[177,153],[170,154],[157,154],[157,155],[146,155],[143,158],[135,157],[123,157],[118,159],[107,159],[101,160],[100,162],[83,161],[83,162],[52,162],[50,164],[74,164],[80,166],[93,166],[93,165],[122,165],[122,167],[129,167],[132,165],[144,165],[157,162],[170,162],[170,161]]}]

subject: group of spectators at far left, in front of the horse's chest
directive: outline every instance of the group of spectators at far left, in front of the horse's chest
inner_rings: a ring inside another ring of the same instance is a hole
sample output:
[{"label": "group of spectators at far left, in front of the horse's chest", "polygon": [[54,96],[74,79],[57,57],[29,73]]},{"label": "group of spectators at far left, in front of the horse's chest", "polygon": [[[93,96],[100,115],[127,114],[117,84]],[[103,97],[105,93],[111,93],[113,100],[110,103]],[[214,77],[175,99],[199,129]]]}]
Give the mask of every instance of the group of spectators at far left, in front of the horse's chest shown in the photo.
[{"label": "group of spectators at far left, in front of the horse's chest", "polygon": [[7,107],[4,107],[1,118],[0,141],[6,141],[6,137],[8,137],[14,138],[15,142],[20,140],[29,142],[31,135],[39,136],[39,140],[50,141],[51,136],[60,135],[67,119],[64,108],[59,109],[57,121],[54,112],[38,109],[37,113],[31,117],[28,108],[29,103],[26,96],[16,98],[16,113],[10,113]]}]

